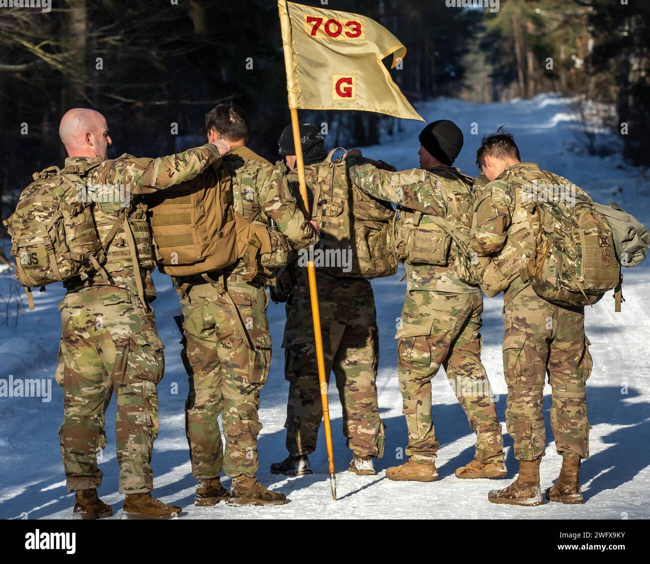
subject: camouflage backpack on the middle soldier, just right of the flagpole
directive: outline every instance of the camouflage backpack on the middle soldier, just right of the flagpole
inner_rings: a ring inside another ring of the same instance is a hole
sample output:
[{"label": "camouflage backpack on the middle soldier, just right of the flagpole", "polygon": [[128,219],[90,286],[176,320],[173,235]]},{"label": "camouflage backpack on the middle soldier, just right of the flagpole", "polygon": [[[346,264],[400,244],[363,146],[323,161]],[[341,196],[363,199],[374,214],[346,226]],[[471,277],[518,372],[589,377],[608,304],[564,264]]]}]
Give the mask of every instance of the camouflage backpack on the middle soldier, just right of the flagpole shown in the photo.
[{"label": "camouflage backpack on the middle soldier, just right of the flagpole", "polygon": [[[324,162],[313,165],[315,190],[311,217],[320,226],[320,246],[325,253],[352,251],[351,264],[330,267],[331,274],[349,278],[378,278],[397,272],[397,260],[390,250],[393,208],[371,198],[350,182],[343,157],[332,160],[337,147]],[[345,272],[348,270],[348,272]]]}]

